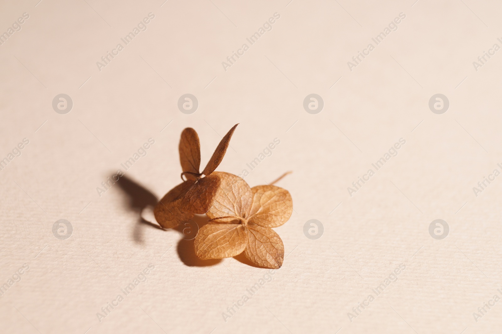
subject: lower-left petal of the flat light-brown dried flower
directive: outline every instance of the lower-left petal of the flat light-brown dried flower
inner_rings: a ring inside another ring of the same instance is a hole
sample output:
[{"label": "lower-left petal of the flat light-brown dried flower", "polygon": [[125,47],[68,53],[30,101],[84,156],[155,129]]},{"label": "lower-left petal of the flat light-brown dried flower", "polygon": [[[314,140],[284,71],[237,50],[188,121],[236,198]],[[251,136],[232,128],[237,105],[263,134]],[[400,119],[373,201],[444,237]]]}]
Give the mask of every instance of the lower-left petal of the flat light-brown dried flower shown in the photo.
[{"label": "lower-left petal of the flat light-brown dried flower", "polygon": [[239,255],[247,244],[245,230],[242,224],[206,224],[195,237],[195,254],[202,260]]}]

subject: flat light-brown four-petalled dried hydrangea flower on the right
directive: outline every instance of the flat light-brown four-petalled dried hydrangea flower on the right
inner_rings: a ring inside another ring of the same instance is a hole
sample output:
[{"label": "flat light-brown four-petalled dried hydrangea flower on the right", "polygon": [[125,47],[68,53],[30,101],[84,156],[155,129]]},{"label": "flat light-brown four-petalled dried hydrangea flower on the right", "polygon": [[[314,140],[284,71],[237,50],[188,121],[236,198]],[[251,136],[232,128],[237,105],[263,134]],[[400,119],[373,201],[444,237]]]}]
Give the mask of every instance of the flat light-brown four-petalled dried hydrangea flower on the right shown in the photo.
[{"label": "flat light-brown four-petalled dried hydrangea flower on the right", "polygon": [[244,252],[258,266],[280,268],[284,245],[272,228],[291,217],[293,201],[289,192],[276,186],[250,188],[235,175],[214,174],[221,184],[207,212],[211,220],[195,237],[195,254],[207,260]]}]

